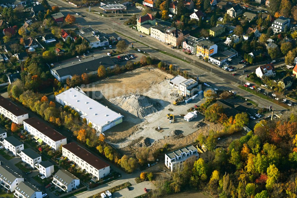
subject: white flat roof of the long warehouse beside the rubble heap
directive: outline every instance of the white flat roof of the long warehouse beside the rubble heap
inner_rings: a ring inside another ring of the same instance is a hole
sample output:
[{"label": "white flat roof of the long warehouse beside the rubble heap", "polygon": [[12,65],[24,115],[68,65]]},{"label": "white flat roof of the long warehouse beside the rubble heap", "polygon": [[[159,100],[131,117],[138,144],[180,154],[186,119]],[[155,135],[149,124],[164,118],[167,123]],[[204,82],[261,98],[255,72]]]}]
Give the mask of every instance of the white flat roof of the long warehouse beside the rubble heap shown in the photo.
[{"label": "white flat roof of the long warehouse beside the rubble heap", "polygon": [[56,97],[75,106],[84,113],[80,116],[81,118],[86,118],[100,127],[123,117],[96,100],[89,98],[79,87],[67,89]]}]

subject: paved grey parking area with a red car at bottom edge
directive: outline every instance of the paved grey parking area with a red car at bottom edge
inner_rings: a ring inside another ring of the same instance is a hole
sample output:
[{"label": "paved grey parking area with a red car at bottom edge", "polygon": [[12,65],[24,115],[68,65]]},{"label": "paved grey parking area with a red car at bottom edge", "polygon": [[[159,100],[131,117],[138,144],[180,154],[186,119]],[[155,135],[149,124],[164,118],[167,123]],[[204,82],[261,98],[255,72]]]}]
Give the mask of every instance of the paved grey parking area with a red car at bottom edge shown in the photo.
[{"label": "paved grey parking area with a red car at bottom edge", "polygon": [[112,194],[112,197],[138,197],[142,194],[145,194],[144,188],[148,191],[154,190],[155,186],[150,181],[144,181],[133,186],[130,186],[130,191],[127,188],[124,188],[120,191],[117,191]]}]

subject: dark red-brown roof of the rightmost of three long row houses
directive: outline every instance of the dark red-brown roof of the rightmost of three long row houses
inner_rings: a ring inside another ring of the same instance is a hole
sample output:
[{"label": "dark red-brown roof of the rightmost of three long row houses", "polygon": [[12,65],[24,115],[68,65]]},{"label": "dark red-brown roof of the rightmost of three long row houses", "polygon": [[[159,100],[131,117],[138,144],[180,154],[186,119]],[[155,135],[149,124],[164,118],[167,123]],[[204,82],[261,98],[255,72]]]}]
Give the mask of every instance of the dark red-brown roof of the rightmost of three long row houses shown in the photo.
[{"label": "dark red-brown roof of the rightmost of three long row houses", "polygon": [[109,166],[105,161],[102,161],[86,149],[78,146],[75,142],[70,142],[69,144],[65,144],[62,146],[66,150],[69,150],[69,152],[73,153],[86,163],[90,164],[93,166],[95,169],[100,170],[103,168],[106,168]]}]

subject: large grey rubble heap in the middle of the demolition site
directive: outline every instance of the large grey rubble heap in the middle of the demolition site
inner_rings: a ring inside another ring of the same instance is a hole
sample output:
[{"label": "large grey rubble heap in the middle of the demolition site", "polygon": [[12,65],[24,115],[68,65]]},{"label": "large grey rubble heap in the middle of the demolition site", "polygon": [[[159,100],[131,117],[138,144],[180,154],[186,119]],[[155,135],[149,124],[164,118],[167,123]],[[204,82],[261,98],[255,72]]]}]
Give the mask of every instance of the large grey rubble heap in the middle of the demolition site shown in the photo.
[{"label": "large grey rubble heap in the middle of the demolition site", "polygon": [[143,95],[129,95],[110,98],[109,101],[129,113],[143,118],[162,109],[160,103]]}]

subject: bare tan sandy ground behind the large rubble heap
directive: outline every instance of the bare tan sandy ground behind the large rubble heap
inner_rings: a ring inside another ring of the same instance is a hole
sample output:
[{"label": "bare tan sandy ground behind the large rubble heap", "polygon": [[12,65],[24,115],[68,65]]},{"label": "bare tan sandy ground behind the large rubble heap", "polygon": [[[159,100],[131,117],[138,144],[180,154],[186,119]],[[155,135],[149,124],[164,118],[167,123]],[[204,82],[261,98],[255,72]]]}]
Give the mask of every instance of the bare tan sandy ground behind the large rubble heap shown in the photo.
[{"label": "bare tan sandy ground behind the large rubble heap", "polygon": [[102,98],[109,99],[129,93],[147,92],[152,85],[159,84],[166,78],[173,76],[147,66],[94,82],[83,91],[96,91],[96,96],[99,96],[100,92]]}]

